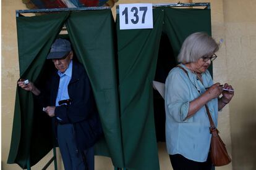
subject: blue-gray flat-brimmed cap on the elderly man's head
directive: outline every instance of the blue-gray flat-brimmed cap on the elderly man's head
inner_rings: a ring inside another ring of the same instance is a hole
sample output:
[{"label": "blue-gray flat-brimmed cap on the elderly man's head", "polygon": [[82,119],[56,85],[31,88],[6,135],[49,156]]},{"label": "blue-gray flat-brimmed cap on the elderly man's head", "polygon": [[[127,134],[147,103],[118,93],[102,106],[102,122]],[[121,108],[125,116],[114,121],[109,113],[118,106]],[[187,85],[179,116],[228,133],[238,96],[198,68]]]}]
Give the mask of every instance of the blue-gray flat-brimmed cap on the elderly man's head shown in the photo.
[{"label": "blue-gray flat-brimmed cap on the elderly man's head", "polygon": [[49,52],[47,59],[61,59],[71,51],[70,42],[66,39],[58,38],[51,45],[51,51]]}]

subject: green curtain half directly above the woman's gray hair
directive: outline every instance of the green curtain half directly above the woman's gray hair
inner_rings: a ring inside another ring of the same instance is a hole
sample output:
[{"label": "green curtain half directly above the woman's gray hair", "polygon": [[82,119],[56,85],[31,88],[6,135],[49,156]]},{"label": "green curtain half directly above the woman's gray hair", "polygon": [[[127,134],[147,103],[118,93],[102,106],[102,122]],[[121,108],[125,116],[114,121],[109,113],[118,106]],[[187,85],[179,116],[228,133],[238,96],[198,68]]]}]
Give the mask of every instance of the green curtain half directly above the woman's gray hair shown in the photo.
[{"label": "green curtain half directly above the woman's gray hair", "polygon": [[[211,35],[210,9],[168,9],[164,10],[164,33],[168,34],[174,57],[179,54],[183,41],[192,33],[205,32]],[[212,65],[210,65],[212,74]]]}]

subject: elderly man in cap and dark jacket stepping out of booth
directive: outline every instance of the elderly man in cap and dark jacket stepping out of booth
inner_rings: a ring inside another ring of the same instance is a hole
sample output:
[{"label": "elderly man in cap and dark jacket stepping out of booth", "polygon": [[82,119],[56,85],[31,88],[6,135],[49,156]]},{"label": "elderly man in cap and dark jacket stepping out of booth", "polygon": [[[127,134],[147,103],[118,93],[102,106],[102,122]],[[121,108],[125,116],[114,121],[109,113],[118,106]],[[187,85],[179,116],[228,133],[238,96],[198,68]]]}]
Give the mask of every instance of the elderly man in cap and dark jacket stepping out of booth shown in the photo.
[{"label": "elderly man in cap and dark jacket stepping out of booth", "polygon": [[[32,82],[21,80],[18,85],[36,95],[36,100],[43,103],[43,111],[53,118],[65,169],[91,170],[93,145],[102,130],[87,73],[72,60],[73,55],[69,41],[56,39],[47,59],[58,71],[49,79],[49,86],[38,89]],[[43,102],[45,99],[49,101]]]}]

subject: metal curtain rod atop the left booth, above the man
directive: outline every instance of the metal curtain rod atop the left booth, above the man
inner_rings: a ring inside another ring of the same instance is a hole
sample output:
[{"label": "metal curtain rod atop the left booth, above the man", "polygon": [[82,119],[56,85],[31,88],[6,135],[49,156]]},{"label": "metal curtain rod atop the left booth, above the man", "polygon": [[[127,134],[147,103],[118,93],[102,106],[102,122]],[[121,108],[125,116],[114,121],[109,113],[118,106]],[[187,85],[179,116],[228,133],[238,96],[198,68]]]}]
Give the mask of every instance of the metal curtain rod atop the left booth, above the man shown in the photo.
[{"label": "metal curtain rod atop the left booth, above the man", "polygon": [[82,11],[82,10],[103,10],[111,9],[111,7],[73,7],[73,8],[54,8],[54,9],[25,9],[16,10],[16,17],[25,13],[40,13],[40,12],[66,12],[66,11]]}]

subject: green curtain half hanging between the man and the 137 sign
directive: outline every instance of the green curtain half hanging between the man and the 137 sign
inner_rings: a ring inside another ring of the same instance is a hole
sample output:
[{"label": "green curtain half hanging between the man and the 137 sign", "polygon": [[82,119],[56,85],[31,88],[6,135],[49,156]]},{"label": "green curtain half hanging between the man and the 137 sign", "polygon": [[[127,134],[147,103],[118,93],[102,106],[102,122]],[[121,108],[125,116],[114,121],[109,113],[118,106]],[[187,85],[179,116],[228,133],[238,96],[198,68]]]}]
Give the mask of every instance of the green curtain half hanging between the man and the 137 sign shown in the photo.
[{"label": "green curtain half hanging between the man and the 137 sign", "polygon": [[103,125],[105,140],[98,142],[96,153],[110,156],[114,166],[123,167],[111,10],[72,12],[67,30],[78,59],[87,70]]}]

